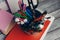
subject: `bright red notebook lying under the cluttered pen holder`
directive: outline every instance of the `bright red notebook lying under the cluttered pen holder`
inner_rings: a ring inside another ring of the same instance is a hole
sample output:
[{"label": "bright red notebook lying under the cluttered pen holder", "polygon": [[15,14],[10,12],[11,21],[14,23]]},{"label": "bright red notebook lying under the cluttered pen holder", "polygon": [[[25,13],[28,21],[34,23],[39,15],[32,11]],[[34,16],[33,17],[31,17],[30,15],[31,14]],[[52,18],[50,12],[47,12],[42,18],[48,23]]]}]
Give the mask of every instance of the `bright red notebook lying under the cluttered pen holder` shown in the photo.
[{"label": "bright red notebook lying under the cluttered pen holder", "polygon": [[33,35],[27,35],[20,29],[19,25],[16,24],[14,28],[10,31],[10,33],[6,36],[5,40],[40,40],[44,32],[48,28],[49,23],[50,21],[46,20],[42,31]]}]

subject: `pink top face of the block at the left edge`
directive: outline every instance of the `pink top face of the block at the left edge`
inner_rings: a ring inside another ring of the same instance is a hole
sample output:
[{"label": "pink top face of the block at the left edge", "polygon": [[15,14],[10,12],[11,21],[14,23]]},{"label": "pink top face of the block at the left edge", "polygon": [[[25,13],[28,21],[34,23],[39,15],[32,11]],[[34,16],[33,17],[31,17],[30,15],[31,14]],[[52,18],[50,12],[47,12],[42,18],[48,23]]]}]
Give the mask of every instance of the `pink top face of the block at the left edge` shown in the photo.
[{"label": "pink top face of the block at the left edge", "polygon": [[5,10],[0,10],[0,30],[7,34],[6,32],[9,29],[9,25],[13,19],[13,15]]}]

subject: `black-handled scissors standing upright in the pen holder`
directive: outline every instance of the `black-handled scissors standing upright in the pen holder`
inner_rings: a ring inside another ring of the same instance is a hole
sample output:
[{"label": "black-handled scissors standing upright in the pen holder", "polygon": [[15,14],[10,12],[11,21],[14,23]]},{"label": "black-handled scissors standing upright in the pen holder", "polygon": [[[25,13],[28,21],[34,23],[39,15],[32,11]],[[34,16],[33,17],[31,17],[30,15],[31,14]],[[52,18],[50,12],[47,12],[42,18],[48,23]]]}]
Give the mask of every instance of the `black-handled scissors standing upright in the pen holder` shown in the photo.
[{"label": "black-handled scissors standing upright in the pen holder", "polygon": [[33,13],[33,18],[35,19],[36,17],[35,17],[35,14],[36,14],[36,11],[35,11],[35,9],[37,8],[37,6],[38,6],[38,4],[39,4],[39,0],[37,0],[37,4],[36,5],[34,5],[34,3],[33,3],[33,0],[27,0],[28,1],[28,7],[30,7],[30,9],[29,10],[31,10],[31,12]]}]

